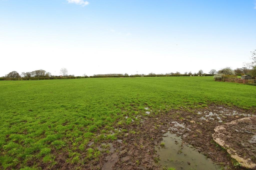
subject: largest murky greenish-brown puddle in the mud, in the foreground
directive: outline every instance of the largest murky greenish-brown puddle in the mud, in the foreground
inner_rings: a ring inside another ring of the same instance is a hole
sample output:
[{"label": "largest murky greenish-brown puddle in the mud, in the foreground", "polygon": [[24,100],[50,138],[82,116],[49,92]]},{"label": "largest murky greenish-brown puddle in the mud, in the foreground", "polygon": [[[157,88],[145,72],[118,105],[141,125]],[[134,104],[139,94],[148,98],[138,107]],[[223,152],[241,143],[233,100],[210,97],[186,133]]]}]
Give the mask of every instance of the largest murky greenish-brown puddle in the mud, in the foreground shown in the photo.
[{"label": "largest murky greenish-brown puddle in the mud, in the foreground", "polygon": [[155,150],[159,154],[162,166],[173,167],[176,169],[207,169],[216,170],[218,166],[211,160],[200,154],[191,145],[183,144],[181,137],[171,134],[169,131],[164,134],[163,143],[165,147]]}]

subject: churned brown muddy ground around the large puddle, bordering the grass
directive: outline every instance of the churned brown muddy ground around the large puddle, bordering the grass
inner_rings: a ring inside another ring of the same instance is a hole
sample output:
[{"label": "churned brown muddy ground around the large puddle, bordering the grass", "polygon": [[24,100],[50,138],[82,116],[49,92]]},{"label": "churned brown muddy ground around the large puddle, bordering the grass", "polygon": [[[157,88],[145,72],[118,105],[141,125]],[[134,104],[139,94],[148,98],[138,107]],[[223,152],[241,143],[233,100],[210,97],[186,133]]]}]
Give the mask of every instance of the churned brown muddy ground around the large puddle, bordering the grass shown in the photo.
[{"label": "churned brown muddy ground around the large puddle, bordering the grass", "polygon": [[[105,152],[102,152],[99,160],[79,165],[80,168],[163,169],[163,165],[159,164],[159,155],[155,146],[160,147],[163,134],[169,131],[181,136],[184,143],[191,144],[220,168],[242,169],[239,166],[233,166],[227,152],[212,140],[212,134],[218,125],[243,117],[255,116],[253,111],[216,105],[197,109],[192,113],[181,109],[153,115],[148,111],[150,108],[145,108],[145,113],[147,112],[148,116],[138,117],[140,119],[138,123],[116,125],[115,133],[118,140],[94,144],[94,147]],[[127,131],[122,131],[122,129],[127,129]],[[253,154],[255,151],[251,150],[250,155]],[[55,168],[75,169],[76,167],[65,162],[65,157],[67,155],[62,154],[56,158],[58,164]]]}]

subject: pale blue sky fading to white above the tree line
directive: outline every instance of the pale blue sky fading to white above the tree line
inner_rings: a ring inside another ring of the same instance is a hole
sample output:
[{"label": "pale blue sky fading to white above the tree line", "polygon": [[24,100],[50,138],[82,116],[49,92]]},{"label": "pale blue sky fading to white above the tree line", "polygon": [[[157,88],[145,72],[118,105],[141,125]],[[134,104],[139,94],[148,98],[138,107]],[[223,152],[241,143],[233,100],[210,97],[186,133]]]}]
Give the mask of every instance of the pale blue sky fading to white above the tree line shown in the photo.
[{"label": "pale blue sky fading to white above the tree line", "polygon": [[0,0],[0,76],[208,73],[242,67],[254,49],[254,0]]}]

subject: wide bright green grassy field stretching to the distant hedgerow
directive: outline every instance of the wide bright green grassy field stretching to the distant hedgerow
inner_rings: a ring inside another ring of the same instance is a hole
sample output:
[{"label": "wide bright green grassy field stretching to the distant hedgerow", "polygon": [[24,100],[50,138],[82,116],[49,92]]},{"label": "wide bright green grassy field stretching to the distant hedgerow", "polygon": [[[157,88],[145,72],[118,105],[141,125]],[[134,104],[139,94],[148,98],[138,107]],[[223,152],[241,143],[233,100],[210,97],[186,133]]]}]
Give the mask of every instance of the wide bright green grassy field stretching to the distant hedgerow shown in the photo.
[{"label": "wide bright green grassy field stretching to the distant hedgerow", "polygon": [[1,81],[0,167],[36,168],[39,163],[51,167],[62,152],[69,152],[66,161],[72,164],[98,159],[101,152],[88,146],[90,140],[115,140],[113,125],[136,123],[136,115],[145,115],[145,107],[152,110],[148,116],[177,108],[191,111],[212,103],[256,107],[255,86],[212,79]]}]

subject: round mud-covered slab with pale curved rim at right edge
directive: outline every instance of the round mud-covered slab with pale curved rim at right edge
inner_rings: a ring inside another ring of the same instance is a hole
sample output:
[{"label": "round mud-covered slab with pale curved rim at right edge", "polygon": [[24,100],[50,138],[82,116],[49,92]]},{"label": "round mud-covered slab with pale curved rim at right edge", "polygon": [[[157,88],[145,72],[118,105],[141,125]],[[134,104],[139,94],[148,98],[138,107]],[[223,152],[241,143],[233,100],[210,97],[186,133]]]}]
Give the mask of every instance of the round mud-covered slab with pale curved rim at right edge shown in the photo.
[{"label": "round mud-covered slab with pale curved rim at right edge", "polygon": [[212,137],[242,167],[256,169],[256,117],[244,117],[217,126]]}]

